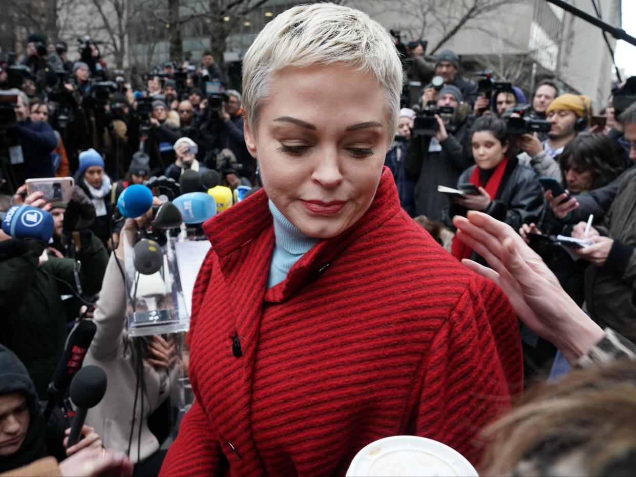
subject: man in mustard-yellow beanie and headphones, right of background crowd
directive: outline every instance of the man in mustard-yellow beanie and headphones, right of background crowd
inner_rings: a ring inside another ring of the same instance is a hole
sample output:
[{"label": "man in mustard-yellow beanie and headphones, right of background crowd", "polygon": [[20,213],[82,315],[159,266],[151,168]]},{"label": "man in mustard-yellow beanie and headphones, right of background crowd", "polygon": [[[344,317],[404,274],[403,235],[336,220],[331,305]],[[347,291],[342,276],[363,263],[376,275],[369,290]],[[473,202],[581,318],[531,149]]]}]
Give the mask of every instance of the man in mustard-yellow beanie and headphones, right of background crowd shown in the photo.
[{"label": "man in mustard-yellow beanie and headphones, right of background crowd", "polygon": [[582,131],[591,118],[590,98],[585,95],[562,94],[546,109],[547,119],[552,123],[548,139],[539,141],[537,134],[523,134],[516,139],[516,146],[522,151],[520,163],[532,167],[539,176],[553,177],[562,181],[563,177],[555,157]]}]

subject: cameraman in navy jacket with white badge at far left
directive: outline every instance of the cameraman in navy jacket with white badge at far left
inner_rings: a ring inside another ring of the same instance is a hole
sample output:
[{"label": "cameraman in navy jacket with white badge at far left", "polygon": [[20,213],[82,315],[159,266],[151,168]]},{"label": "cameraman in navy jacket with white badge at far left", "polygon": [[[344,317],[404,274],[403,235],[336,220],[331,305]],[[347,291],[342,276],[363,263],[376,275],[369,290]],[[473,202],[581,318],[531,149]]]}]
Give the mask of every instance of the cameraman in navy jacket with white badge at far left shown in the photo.
[{"label": "cameraman in navy jacket with white badge at far left", "polygon": [[57,137],[53,128],[46,121],[31,121],[29,118],[29,99],[20,90],[10,90],[17,95],[15,118],[17,125],[8,131],[10,137],[20,140],[11,155],[11,169],[16,184],[23,184],[26,179],[55,176],[55,165],[51,153],[57,148]]}]

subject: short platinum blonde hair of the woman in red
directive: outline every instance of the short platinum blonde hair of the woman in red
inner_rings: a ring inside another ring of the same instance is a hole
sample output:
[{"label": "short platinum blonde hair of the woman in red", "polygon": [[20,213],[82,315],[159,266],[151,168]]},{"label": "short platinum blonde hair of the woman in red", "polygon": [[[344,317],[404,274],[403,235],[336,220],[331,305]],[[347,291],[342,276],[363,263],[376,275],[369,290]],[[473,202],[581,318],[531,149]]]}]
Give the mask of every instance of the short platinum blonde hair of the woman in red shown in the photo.
[{"label": "short platinum blonde hair of the woman in red", "polygon": [[399,120],[402,66],[393,39],[366,13],[333,3],[299,5],[258,34],[243,59],[243,107],[256,130],[274,74],[288,66],[345,64],[371,74],[385,90],[391,135]]}]

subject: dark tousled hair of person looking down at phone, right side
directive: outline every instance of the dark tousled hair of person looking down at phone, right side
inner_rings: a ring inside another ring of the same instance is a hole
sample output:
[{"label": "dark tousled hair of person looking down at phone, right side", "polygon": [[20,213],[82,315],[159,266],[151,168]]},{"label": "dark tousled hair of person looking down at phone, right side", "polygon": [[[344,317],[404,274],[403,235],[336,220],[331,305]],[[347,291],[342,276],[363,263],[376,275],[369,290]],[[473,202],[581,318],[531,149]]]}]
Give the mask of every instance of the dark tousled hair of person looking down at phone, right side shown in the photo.
[{"label": "dark tousled hair of person looking down at phone, right side", "polygon": [[585,172],[593,175],[592,189],[597,189],[611,182],[621,172],[621,167],[612,148],[612,143],[604,134],[583,132],[568,142],[563,152],[556,156],[561,166],[563,177],[568,170]]}]

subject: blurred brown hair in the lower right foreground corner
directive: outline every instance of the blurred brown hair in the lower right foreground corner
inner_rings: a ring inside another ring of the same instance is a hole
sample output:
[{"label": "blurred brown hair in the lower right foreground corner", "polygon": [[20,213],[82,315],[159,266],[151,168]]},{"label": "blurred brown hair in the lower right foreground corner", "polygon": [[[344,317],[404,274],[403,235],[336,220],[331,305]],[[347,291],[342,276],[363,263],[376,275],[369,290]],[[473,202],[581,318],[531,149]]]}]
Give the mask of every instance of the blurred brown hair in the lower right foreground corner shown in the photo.
[{"label": "blurred brown hair in the lower right foreground corner", "polygon": [[482,432],[482,475],[630,475],[636,363],[617,359],[539,385]]}]

